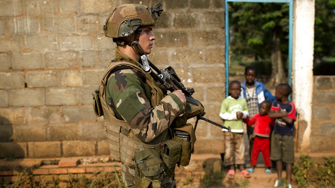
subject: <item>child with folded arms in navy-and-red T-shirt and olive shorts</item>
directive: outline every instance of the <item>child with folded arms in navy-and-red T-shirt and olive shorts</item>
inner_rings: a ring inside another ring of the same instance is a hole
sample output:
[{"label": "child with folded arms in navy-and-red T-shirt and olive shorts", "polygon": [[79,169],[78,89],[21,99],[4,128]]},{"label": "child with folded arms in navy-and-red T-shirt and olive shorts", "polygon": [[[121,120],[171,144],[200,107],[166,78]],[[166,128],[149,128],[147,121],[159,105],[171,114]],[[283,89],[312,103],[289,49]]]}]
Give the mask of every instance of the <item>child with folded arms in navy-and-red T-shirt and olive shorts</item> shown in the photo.
[{"label": "child with folded arms in navy-and-red T-shirt and olive shorts", "polygon": [[271,160],[276,161],[278,180],[273,187],[282,187],[282,161],[286,163],[286,188],[291,188],[292,164],[294,163],[294,121],[296,120],[295,106],[288,100],[292,92],[287,83],[276,87],[276,101],[273,102],[269,112],[270,118],[275,118],[274,129],[271,136]]}]

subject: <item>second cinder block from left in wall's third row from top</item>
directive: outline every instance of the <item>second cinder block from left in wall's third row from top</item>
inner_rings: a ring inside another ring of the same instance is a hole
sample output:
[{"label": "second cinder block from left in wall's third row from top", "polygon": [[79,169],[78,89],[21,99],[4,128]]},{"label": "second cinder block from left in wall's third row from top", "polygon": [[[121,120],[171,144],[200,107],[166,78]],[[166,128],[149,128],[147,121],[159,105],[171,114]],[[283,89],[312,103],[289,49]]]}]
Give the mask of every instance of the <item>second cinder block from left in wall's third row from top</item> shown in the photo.
[{"label": "second cinder block from left in wall's third row from top", "polygon": [[56,51],[58,49],[57,35],[26,35],[25,46],[30,50]]}]

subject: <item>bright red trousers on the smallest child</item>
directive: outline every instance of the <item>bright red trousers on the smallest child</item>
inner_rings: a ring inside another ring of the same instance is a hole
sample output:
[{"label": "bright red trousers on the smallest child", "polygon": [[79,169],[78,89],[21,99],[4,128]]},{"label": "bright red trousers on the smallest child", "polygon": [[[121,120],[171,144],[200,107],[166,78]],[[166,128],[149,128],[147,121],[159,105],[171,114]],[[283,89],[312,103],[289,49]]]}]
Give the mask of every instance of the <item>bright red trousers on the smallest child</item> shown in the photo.
[{"label": "bright red trousers on the smallest child", "polygon": [[270,138],[255,136],[254,146],[251,152],[251,166],[256,166],[258,155],[261,151],[263,153],[265,166],[270,167]]}]

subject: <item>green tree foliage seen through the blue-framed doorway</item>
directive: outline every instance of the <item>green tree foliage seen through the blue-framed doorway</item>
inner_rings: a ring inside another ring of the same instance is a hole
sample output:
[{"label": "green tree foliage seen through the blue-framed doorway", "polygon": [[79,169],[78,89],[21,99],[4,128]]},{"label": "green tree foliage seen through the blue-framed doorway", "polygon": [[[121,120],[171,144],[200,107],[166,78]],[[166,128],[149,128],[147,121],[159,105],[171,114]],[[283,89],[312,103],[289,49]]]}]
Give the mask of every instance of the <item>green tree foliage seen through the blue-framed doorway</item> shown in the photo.
[{"label": "green tree foliage seen through the blue-framed doorway", "polygon": [[287,51],[287,4],[233,2],[228,5],[230,49],[234,55],[269,59],[275,29],[282,31],[280,47],[282,52]]}]

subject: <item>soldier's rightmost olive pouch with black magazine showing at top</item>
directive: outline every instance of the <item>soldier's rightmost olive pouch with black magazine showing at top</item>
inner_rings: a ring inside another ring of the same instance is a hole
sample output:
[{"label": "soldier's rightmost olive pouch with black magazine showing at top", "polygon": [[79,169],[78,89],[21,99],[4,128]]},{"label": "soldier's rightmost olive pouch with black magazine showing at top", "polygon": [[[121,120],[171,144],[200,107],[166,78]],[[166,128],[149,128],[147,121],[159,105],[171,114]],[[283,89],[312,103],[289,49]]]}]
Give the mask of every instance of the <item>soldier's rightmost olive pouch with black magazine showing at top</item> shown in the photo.
[{"label": "soldier's rightmost olive pouch with black magazine showing at top", "polygon": [[174,129],[174,140],[181,145],[181,154],[178,165],[187,166],[191,160],[191,153],[194,153],[194,142],[197,140],[192,124]]}]

